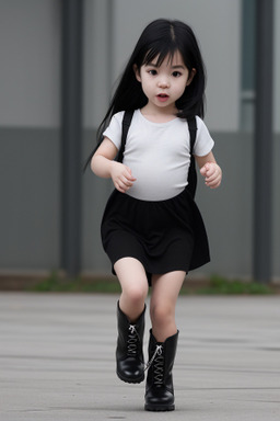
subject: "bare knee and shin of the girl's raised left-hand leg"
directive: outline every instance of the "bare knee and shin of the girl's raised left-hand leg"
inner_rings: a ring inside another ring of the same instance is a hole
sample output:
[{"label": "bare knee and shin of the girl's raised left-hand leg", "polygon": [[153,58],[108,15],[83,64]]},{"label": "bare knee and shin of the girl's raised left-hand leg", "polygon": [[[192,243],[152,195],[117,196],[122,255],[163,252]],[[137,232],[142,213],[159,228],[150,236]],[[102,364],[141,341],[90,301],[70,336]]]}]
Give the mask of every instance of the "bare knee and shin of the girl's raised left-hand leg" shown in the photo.
[{"label": "bare knee and shin of the girl's raised left-hand leg", "polygon": [[119,307],[133,322],[143,311],[149,292],[144,268],[137,259],[124,258],[115,263],[114,269],[121,286]]}]

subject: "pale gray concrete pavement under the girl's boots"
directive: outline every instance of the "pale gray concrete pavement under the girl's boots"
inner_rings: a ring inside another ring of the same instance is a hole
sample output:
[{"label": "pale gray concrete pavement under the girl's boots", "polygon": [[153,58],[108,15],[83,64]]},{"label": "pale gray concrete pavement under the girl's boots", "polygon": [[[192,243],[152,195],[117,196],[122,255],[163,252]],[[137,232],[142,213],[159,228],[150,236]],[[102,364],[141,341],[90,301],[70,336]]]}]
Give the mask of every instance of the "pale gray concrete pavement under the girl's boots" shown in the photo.
[{"label": "pale gray concrete pavement under the girl's boots", "polygon": [[[115,375],[116,301],[0,293],[0,421],[280,419],[279,296],[179,298],[176,410],[163,413]],[[147,314],[145,350],[148,329]]]}]

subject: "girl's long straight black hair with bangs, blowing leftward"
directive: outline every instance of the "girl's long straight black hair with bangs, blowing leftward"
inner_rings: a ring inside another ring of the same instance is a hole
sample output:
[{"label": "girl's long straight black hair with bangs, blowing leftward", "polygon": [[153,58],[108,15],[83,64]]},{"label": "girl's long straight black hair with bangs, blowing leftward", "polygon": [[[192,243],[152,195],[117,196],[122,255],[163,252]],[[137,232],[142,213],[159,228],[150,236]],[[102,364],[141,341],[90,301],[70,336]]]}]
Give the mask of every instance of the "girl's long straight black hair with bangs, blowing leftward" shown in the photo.
[{"label": "girl's long straight black hair with bangs, blowing leftward", "polygon": [[140,70],[141,66],[150,64],[155,58],[156,66],[161,66],[165,57],[170,57],[172,60],[176,52],[180,53],[189,73],[194,68],[196,69],[191,83],[186,87],[183,95],[176,101],[177,116],[188,118],[199,115],[203,118],[206,71],[196,36],[190,26],[184,22],[155,20],[144,29],[127,62],[108,111],[97,129],[97,146],[88,158],[85,168],[102,143],[103,132],[112,116],[119,111],[141,109],[148,102],[141,83],[136,79],[133,66],[136,65]]}]

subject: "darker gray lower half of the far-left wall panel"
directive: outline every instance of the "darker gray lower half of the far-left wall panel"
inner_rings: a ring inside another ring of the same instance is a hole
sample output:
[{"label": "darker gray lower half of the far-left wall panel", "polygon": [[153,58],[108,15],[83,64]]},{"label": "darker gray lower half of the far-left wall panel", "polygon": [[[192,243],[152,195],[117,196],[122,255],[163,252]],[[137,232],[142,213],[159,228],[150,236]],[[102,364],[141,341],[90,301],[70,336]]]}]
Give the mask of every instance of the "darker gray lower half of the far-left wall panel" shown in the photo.
[{"label": "darker gray lower half of the far-left wall panel", "polygon": [[59,133],[0,129],[0,269],[59,266]]}]

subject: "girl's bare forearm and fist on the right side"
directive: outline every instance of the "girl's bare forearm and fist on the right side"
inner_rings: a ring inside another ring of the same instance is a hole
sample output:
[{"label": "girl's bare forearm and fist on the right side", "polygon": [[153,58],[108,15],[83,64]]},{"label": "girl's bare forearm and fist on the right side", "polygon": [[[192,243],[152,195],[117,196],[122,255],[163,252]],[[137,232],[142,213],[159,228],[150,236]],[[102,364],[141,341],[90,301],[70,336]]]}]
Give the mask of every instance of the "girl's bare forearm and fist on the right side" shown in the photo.
[{"label": "girl's bare forearm and fist on the right side", "polygon": [[210,189],[217,189],[222,181],[222,170],[215,162],[212,152],[209,152],[205,157],[197,157],[196,161],[200,168],[201,175],[205,177],[206,185]]}]

